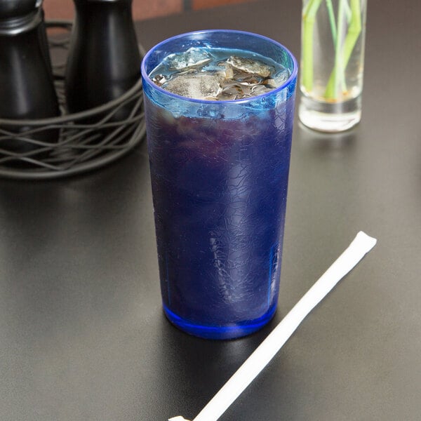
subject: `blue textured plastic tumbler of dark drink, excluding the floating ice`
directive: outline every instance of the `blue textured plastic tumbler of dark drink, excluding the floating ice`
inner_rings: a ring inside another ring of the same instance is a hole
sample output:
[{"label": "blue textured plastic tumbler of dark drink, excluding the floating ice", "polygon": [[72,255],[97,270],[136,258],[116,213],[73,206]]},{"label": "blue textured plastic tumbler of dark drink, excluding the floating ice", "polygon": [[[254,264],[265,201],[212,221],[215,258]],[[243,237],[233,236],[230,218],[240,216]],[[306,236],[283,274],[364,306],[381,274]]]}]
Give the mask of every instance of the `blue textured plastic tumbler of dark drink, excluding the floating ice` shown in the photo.
[{"label": "blue textured plastic tumbler of dark drink, excluding the floating ice", "polygon": [[[154,69],[192,46],[267,58],[288,76],[240,100],[185,98],[157,86]],[[163,309],[187,333],[238,338],[274,315],[296,75],[286,48],[236,31],[176,36],[142,62]]]}]

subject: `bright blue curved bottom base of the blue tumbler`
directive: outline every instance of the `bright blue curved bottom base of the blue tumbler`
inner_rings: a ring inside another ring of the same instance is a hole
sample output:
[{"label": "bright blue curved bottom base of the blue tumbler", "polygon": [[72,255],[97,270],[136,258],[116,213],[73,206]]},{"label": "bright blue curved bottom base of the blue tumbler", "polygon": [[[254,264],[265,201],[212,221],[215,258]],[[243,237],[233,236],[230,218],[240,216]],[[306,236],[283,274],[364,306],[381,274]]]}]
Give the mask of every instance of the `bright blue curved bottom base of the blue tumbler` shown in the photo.
[{"label": "bright blue curved bottom base of the blue tumbler", "polygon": [[225,340],[241,338],[242,336],[250,335],[257,330],[260,330],[273,318],[276,312],[276,305],[271,307],[269,311],[259,319],[242,323],[232,323],[230,326],[203,326],[195,324],[191,321],[182,319],[177,314],[171,312],[165,305],[163,305],[163,311],[167,319],[171,321],[173,325],[180,330],[183,330],[185,333],[189,333],[189,335],[199,336],[199,338],[205,339]]}]

